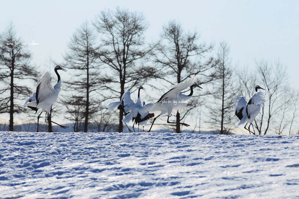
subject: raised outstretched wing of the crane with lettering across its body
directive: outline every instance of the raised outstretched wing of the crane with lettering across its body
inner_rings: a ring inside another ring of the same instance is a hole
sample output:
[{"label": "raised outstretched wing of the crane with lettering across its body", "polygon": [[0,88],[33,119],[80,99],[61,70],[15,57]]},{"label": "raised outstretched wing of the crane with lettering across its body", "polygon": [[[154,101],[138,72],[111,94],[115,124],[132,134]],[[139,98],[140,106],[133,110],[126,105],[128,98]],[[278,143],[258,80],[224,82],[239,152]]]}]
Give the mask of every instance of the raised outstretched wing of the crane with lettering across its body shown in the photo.
[{"label": "raised outstretched wing of the crane with lettering across its body", "polygon": [[188,79],[185,82],[173,85],[171,87],[171,89],[169,91],[167,91],[165,94],[163,94],[161,96],[161,98],[156,102],[161,102],[164,100],[169,100],[169,99],[176,99],[178,97],[178,95],[181,93],[181,91],[187,89],[188,87],[190,87],[191,85],[194,84],[194,82],[196,81],[197,76],[193,75],[193,77],[191,77],[190,79]]}]

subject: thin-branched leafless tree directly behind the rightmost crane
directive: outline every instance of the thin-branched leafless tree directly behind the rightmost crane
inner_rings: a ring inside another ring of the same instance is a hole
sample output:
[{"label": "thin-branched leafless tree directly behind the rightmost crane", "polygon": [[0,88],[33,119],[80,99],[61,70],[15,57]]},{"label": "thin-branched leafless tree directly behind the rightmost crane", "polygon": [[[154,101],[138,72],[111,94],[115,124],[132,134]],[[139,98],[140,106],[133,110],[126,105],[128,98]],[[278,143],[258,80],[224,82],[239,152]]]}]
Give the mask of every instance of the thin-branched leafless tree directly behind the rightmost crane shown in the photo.
[{"label": "thin-branched leafless tree directly behind the rightmost crane", "polygon": [[254,94],[254,86],[260,85],[266,89],[266,100],[262,106],[260,114],[255,118],[254,131],[267,134],[270,129],[274,129],[276,115],[283,114],[284,98],[281,97],[288,87],[288,75],[286,66],[279,61],[268,63],[266,61],[256,61],[254,71],[243,70],[238,72],[241,85],[241,93],[244,96]]}]

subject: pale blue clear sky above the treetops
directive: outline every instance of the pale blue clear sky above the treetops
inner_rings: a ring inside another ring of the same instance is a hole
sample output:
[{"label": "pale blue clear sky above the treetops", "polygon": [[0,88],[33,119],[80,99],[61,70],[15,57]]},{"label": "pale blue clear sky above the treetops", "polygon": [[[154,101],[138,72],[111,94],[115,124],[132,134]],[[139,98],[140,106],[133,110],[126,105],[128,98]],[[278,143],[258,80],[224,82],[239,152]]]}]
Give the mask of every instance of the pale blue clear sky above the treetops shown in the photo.
[{"label": "pale blue clear sky above the treetops", "polygon": [[299,1],[5,1],[0,31],[13,21],[25,42],[38,42],[30,49],[42,73],[49,70],[50,54],[62,61],[77,27],[117,6],[144,13],[148,42],[158,40],[163,24],[177,19],[186,30],[197,30],[201,41],[228,42],[233,64],[253,66],[254,59],[280,59],[288,66],[291,82],[299,84]]}]

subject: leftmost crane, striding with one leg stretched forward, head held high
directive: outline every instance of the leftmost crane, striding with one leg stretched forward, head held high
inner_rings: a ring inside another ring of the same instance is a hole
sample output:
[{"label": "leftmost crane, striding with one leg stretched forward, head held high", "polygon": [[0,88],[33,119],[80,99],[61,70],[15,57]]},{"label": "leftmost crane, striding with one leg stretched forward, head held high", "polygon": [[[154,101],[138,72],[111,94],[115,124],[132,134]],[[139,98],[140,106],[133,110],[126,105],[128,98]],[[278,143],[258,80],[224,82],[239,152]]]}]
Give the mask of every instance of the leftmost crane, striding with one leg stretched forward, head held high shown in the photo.
[{"label": "leftmost crane, striding with one leg stretched forward, head held high", "polygon": [[[38,126],[39,126],[39,117],[42,114],[42,112],[47,111],[48,116],[51,109],[52,104],[57,100],[58,94],[60,92],[60,86],[61,86],[61,79],[60,75],[58,74],[58,70],[67,71],[60,66],[55,66],[54,71],[57,75],[57,83],[52,86],[50,82],[50,74],[49,72],[45,72],[45,74],[42,75],[42,77],[37,81],[36,83],[36,91],[26,100],[24,103],[23,108],[28,107],[35,111],[37,113],[38,109],[42,109],[40,114],[37,116],[37,132],[38,132]],[[48,120],[48,119],[47,119]],[[51,121],[54,124],[57,124],[53,121]],[[60,124],[61,128],[68,128],[68,126],[63,126]]]}]

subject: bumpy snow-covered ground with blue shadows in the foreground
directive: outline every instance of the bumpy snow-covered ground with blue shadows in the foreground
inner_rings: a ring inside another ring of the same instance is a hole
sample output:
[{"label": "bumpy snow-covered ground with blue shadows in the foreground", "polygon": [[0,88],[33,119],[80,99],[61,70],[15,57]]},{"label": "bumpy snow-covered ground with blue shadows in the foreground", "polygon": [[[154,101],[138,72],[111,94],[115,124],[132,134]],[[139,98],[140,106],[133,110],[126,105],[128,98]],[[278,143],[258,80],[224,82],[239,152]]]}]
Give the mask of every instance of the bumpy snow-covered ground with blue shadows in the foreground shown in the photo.
[{"label": "bumpy snow-covered ground with blue shadows in the foreground", "polygon": [[298,198],[299,137],[0,132],[0,198]]}]

